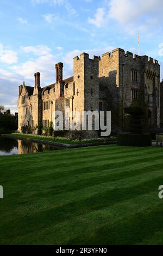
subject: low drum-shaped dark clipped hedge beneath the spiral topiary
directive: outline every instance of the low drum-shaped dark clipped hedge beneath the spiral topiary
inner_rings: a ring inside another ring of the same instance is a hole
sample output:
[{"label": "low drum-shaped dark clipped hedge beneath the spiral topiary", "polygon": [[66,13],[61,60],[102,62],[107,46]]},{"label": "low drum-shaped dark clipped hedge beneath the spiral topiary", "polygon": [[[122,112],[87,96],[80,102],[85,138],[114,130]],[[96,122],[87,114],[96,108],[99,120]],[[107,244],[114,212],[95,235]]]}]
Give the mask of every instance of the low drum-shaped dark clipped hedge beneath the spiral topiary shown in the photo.
[{"label": "low drum-shaped dark clipped hedge beneath the spiral topiary", "polygon": [[118,133],[118,146],[148,147],[152,146],[151,134]]}]

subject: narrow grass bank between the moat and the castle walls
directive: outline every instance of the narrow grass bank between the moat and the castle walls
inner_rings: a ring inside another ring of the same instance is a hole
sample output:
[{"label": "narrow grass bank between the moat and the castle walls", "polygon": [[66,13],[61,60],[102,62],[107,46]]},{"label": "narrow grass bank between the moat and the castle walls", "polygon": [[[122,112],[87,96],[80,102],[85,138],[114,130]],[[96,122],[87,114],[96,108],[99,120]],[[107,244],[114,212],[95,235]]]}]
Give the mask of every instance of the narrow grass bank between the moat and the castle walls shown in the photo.
[{"label": "narrow grass bank between the moat and the castle walls", "polygon": [[95,138],[95,139],[67,139],[62,137],[52,137],[52,136],[43,136],[43,135],[33,135],[33,134],[23,134],[23,133],[11,133],[8,136],[14,136],[16,138],[28,138],[28,139],[36,139],[36,140],[43,140],[43,141],[51,141],[51,142],[60,142],[64,144],[87,144],[87,143],[96,143],[96,142],[105,142],[105,141],[116,141],[116,137],[110,138]]}]

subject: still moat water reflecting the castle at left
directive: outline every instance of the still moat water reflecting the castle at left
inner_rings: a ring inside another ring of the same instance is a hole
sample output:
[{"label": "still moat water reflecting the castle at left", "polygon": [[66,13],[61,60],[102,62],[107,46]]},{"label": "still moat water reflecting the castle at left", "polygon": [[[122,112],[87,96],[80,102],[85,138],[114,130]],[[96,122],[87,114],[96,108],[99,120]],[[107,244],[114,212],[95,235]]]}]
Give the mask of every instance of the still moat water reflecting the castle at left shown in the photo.
[{"label": "still moat water reflecting the castle at left", "polygon": [[4,138],[0,135],[0,156],[11,154],[27,154],[43,151],[60,150],[62,148],[39,144],[32,141]]}]

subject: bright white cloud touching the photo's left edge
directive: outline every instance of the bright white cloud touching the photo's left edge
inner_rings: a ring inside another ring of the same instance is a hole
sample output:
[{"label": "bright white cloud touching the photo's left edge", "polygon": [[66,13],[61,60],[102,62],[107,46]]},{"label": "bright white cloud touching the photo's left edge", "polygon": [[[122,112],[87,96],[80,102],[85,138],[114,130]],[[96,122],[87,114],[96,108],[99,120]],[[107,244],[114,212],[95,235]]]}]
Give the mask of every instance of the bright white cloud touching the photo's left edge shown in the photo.
[{"label": "bright white cloud touching the photo's left edge", "polygon": [[0,61],[6,64],[17,63],[17,52],[12,50],[3,50],[0,56]]}]

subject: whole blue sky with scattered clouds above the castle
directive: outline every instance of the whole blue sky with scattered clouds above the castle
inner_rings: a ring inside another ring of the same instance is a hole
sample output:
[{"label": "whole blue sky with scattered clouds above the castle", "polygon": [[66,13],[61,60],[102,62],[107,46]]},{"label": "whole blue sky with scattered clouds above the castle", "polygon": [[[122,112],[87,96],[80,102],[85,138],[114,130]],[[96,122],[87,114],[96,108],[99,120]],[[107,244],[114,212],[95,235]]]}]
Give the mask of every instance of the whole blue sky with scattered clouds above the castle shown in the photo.
[{"label": "whole blue sky with scattered clouds above the castle", "polygon": [[[73,57],[117,47],[163,65],[162,0],[0,0],[0,104],[17,111],[18,85],[55,81],[54,64],[73,74]],[[161,79],[163,73],[161,72]]]}]

